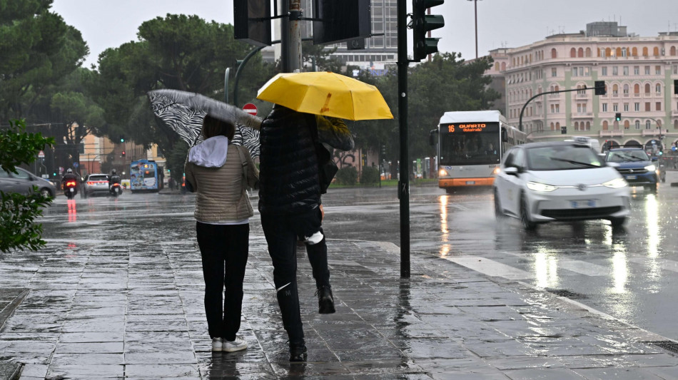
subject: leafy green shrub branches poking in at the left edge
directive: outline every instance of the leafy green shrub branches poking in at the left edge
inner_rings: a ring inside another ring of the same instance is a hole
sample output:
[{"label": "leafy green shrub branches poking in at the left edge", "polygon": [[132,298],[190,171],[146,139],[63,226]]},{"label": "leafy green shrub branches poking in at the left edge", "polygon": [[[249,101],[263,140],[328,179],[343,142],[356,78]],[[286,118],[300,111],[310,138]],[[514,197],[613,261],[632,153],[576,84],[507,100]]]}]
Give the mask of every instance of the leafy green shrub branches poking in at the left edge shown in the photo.
[{"label": "leafy green shrub branches poking in at the left edge", "polygon": [[[0,131],[0,166],[4,170],[16,173],[16,165],[32,163],[39,150],[54,144],[53,138],[25,133],[25,129],[24,120],[12,120],[8,129]],[[51,199],[43,197],[36,187],[29,195],[0,191],[0,251],[43,247],[42,225],[34,220],[50,203]]]}]

